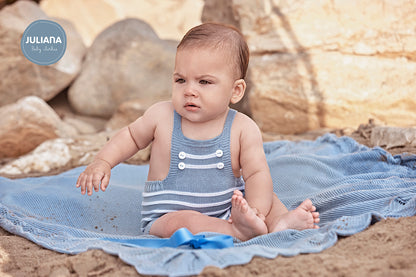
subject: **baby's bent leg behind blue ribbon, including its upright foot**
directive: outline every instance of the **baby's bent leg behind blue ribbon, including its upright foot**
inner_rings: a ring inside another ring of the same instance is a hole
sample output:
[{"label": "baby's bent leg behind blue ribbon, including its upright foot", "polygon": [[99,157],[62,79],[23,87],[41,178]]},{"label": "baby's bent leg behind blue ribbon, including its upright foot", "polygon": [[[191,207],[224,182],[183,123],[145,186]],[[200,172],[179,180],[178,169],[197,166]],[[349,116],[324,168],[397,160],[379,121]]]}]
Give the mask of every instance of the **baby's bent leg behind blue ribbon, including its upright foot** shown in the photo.
[{"label": "baby's bent leg behind blue ribbon, including its upright foot", "polygon": [[241,192],[234,193],[231,204],[232,220],[230,221],[207,216],[196,211],[183,210],[165,214],[157,219],[150,228],[150,234],[167,238],[184,227],[193,234],[217,232],[243,241],[267,234],[266,223],[250,208]]}]

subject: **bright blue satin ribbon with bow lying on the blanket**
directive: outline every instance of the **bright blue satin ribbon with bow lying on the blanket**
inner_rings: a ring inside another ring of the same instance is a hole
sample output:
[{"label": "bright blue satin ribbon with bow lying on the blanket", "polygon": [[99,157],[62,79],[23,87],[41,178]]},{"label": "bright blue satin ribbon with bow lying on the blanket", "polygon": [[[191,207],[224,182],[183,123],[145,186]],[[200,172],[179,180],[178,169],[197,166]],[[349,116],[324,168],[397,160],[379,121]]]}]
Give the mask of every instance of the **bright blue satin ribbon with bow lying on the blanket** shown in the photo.
[{"label": "bright blue satin ribbon with bow lying on the blanket", "polygon": [[186,228],[177,230],[170,238],[167,239],[113,239],[102,238],[102,240],[118,242],[130,247],[179,247],[189,245],[194,249],[222,249],[233,247],[233,237],[227,235],[218,235],[206,238],[205,235],[193,235]]}]

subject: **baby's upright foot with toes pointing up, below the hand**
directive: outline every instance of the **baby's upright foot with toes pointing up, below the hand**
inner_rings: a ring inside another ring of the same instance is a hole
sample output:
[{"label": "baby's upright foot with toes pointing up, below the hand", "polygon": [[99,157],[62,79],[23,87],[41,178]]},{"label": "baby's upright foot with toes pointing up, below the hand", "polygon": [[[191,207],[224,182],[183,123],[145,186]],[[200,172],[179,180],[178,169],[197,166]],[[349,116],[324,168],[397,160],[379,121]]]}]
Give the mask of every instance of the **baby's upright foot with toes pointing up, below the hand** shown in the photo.
[{"label": "baby's upright foot with toes pointing up, below the hand", "polygon": [[231,205],[232,220],[230,220],[230,223],[237,238],[244,241],[255,236],[267,234],[266,223],[257,215],[256,210],[248,205],[241,191],[234,191]]}]

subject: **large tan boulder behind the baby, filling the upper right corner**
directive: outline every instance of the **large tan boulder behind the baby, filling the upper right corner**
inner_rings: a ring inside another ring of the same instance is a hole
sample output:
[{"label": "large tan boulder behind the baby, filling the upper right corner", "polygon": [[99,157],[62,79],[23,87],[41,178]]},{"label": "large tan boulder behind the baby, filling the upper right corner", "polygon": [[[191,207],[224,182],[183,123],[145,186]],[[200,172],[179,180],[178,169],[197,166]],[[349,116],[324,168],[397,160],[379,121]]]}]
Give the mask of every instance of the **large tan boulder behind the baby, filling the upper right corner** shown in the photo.
[{"label": "large tan boulder behind the baby, filling the upper right corner", "polygon": [[[250,51],[250,107],[261,129],[301,133],[369,118],[416,122],[416,13],[406,0],[206,0],[228,9]],[[205,9],[204,20],[215,19]]]}]

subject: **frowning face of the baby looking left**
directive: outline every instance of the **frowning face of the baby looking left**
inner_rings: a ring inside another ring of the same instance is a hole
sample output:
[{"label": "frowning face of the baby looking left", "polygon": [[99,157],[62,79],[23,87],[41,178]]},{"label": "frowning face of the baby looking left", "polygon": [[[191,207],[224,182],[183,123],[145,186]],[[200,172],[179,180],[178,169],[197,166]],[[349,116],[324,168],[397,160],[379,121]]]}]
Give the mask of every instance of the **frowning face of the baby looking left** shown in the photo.
[{"label": "frowning face of the baby looking left", "polygon": [[230,54],[213,48],[184,48],[176,53],[172,102],[193,122],[206,122],[228,112],[236,81]]}]

